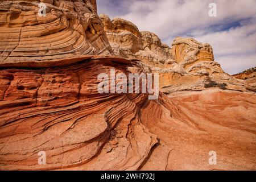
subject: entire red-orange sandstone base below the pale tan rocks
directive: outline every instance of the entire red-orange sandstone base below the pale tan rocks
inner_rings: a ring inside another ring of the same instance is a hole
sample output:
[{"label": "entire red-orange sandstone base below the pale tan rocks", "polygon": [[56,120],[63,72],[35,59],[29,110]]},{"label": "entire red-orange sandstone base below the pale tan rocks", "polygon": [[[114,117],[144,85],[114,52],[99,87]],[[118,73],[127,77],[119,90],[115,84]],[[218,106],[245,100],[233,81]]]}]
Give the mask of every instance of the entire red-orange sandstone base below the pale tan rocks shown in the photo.
[{"label": "entire red-orange sandstone base below the pale tan rocks", "polygon": [[[256,168],[255,94],[99,94],[98,74],[115,68],[127,75],[135,62],[69,61],[1,69],[1,169]],[[212,150],[217,166],[208,163]],[[39,151],[47,164],[38,164]]]}]

